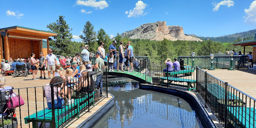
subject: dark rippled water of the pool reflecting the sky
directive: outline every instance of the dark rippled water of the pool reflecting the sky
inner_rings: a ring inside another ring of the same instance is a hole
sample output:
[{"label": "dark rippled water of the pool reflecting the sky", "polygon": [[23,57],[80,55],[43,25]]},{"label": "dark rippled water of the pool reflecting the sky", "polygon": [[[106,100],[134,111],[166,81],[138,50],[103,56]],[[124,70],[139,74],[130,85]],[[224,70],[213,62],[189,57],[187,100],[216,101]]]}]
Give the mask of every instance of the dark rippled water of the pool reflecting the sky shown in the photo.
[{"label": "dark rippled water of the pool reflecting the sky", "polygon": [[202,128],[184,99],[141,90],[139,83],[125,81],[126,84],[109,87],[115,105],[93,128]]}]

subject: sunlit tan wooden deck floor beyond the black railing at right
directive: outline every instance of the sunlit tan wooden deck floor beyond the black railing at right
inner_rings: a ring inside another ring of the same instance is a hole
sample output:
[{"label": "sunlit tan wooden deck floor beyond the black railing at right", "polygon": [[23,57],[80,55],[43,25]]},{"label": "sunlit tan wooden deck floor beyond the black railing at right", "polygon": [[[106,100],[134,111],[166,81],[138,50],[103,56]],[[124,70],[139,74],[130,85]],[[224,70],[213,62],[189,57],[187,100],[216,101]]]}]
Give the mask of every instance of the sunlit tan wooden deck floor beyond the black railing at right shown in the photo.
[{"label": "sunlit tan wooden deck floor beyond the black railing at right", "polygon": [[256,98],[256,70],[205,70],[212,76],[228,82],[242,92]]}]

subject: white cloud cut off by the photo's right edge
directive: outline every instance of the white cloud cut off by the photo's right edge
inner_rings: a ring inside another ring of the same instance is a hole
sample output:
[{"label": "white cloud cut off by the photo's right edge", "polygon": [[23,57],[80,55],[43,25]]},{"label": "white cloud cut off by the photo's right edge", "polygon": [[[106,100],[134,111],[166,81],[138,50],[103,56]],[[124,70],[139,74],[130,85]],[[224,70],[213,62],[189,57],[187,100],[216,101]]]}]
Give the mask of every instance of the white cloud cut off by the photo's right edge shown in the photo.
[{"label": "white cloud cut off by the photo's right edge", "polygon": [[250,4],[249,9],[244,9],[244,12],[246,14],[245,22],[256,23],[256,0]]}]

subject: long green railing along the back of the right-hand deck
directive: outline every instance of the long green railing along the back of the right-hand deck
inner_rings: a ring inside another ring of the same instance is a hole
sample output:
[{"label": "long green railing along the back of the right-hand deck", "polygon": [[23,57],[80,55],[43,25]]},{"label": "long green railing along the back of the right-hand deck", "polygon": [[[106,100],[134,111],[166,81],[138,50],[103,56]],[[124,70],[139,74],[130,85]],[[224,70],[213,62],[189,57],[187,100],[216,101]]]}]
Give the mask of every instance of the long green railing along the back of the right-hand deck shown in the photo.
[{"label": "long green railing along the back of the right-hand deck", "polygon": [[[209,56],[195,56],[195,65],[200,68],[211,67],[211,59]],[[192,56],[179,56],[178,61],[183,60],[184,65],[192,65]],[[215,55],[213,58],[213,66],[215,68],[227,69],[230,68],[230,55]],[[248,68],[248,55],[234,55],[233,66]]]}]

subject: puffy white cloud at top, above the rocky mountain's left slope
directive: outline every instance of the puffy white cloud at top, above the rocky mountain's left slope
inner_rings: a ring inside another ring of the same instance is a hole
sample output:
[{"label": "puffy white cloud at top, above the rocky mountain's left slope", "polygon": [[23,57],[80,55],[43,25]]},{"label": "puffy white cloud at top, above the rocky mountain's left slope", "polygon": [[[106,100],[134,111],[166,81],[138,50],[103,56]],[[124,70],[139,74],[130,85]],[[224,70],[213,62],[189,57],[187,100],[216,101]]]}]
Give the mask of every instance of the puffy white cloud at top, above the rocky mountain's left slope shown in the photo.
[{"label": "puffy white cloud at top, above the rocky mountain's left slope", "polygon": [[[129,11],[129,15],[127,17],[139,17],[139,15],[146,15],[147,13],[143,12],[146,6],[147,6],[146,3],[143,3],[143,1],[139,0],[136,3],[135,8],[133,10]],[[126,11],[126,12],[128,12],[128,11]]]}]

